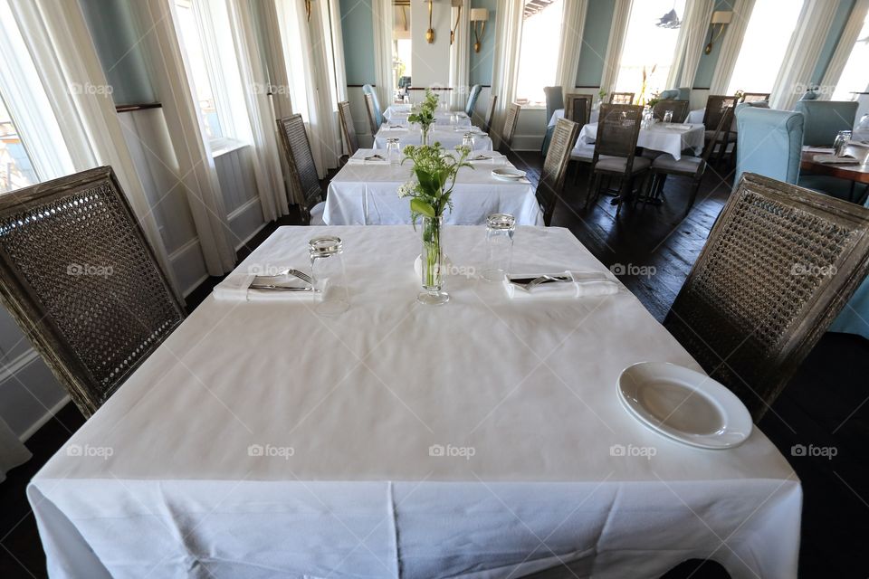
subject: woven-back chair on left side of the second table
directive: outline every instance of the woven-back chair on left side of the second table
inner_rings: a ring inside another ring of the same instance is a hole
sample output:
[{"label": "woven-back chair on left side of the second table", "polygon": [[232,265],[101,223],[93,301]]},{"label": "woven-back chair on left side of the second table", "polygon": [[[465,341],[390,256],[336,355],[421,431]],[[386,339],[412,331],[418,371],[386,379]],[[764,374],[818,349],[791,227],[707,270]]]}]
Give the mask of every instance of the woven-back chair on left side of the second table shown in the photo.
[{"label": "woven-back chair on left side of the second table", "polygon": [[310,152],[305,121],[299,114],[278,119],[278,132],[281,133],[283,153],[287,156],[290,182],[302,195],[302,219],[310,225],[321,225],[325,209],[325,204],[321,203],[323,190]]}]

